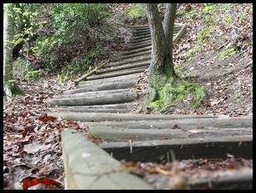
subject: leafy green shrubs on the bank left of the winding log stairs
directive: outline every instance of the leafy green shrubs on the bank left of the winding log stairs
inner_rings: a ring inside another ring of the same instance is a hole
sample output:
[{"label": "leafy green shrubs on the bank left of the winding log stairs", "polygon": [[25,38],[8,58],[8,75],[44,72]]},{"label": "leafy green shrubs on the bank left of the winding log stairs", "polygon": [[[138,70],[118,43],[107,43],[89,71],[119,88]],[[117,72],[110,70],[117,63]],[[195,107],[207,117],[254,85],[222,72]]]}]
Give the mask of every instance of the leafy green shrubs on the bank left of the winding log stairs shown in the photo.
[{"label": "leafy green shrubs on the bank left of the winding log stairs", "polygon": [[[66,70],[62,69],[65,79],[69,79],[71,73],[87,70],[88,65],[81,64],[91,65],[92,60],[104,54],[102,44],[116,38],[102,25],[111,15],[108,3],[22,3],[16,11],[18,18],[22,18],[17,19],[17,27],[25,28],[22,31],[17,28],[15,43],[37,35],[37,40],[29,45],[29,55],[36,55],[37,64],[44,70],[57,70],[66,65]],[[85,42],[92,46],[87,48]],[[90,53],[86,49],[90,49]]]}]

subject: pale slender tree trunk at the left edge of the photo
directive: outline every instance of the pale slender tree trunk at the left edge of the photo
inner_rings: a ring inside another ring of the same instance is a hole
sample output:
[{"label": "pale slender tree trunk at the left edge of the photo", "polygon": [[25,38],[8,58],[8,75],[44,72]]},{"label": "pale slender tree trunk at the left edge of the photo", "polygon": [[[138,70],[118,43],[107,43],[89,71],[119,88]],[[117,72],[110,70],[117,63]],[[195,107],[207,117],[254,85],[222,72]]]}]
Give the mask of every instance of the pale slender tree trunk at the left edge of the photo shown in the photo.
[{"label": "pale slender tree trunk at the left edge of the photo", "polygon": [[12,3],[4,3],[3,19],[3,92],[7,99],[14,94],[22,94],[22,90],[13,82],[12,48],[14,36],[14,11]]}]

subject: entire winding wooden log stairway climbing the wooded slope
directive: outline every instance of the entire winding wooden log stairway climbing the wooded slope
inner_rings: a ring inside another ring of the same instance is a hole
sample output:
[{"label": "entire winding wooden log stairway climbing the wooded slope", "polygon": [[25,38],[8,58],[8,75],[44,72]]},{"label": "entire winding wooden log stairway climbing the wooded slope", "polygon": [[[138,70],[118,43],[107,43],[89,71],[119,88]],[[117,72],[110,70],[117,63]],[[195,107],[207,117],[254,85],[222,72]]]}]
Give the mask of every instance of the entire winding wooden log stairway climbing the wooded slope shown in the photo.
[{"label": "entire winding wooden log stairway climbing the wooded slope", "polygon": [[[76,89],[47,100],[57,105],[49,115],[77,120],[89,126],[93,137],[105,140],[95,145],[75,130],[62,133],[66,189],[152,189],[128,172],[117,172],[118,161],[160,162],[160,158],[167,159],[170,150],[178,160],[224,159],[227,153],[253,157],[252,117],[129,113],[133,101],[138,99],[131,88],[150,65],[150,29],[116,25],[132,31],[126,51],[81,76],[76,80]],[[175,24],[174,41],[184,34],[185,25]],[[209,189],[220,184],[227,189],[237,189],[237,184],[250,188],[252,170],[237,173],[228,173],[221,179],[204,176],[187,182],[192,189],[204,189],[209,181]]]}]

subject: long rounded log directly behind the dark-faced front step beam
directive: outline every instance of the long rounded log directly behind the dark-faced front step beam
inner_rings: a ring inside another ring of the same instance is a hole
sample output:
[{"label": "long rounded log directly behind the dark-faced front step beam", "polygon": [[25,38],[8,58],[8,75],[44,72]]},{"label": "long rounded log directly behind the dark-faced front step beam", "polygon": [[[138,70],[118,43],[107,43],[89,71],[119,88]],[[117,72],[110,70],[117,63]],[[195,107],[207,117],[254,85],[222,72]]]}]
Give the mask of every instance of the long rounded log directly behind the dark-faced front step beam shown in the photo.
[{"label": "long rounded log directly behind the dark-faced front step beam", "polygon": [[[82,124],[86,126],[86,124]],[[252,135],[253,128],[204,128],[204,129],[141,129],[141,128],[106,128],[90,127],[95,138],[113,142],[148,141],[179,138],[224,138],[229,136]]]}]

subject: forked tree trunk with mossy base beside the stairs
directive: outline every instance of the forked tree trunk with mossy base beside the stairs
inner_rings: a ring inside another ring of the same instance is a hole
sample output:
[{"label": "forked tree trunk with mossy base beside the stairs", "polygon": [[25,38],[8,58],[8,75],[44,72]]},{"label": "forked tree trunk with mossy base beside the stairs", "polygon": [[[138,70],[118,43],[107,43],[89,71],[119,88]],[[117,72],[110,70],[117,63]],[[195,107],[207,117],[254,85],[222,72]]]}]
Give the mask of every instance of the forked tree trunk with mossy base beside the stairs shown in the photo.
[{"label": "forked tree trunk with mossy base beside the stairs", "polygon": [[177,78],[173,63],[173,32],[175,25],[176,3],[167,3],[162,24],[156,3],[145,3],[145,12],[150,24],[152,54],[148,100],[159,98],[159,90],[165,84],[172,84]]}]

